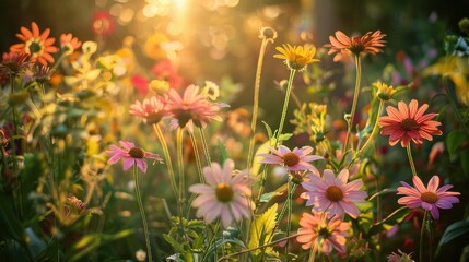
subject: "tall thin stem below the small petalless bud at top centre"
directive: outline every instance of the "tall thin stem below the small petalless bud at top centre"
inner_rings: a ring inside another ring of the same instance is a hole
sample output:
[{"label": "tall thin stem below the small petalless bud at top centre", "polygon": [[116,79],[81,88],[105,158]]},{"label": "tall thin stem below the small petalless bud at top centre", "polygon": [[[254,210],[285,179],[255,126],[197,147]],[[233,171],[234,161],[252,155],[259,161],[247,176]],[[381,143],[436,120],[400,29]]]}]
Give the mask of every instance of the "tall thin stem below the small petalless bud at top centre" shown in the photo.
[{"label": "tall thin stem below the small petalless bud at top centre", "polygon": [[254,102],[253,102],[253,118],[250,120],[250,136],[249,136],[249,151],[247,154],[247,170],[250,170],[254,157],[254,135],[256,134],[257,116],[259,112],[259,90],[260,90],[260,75],[262,72],[263,56],[269,40],[263,37],[260,45],[259,58],[257,59],[256,80],[254,82]]}]

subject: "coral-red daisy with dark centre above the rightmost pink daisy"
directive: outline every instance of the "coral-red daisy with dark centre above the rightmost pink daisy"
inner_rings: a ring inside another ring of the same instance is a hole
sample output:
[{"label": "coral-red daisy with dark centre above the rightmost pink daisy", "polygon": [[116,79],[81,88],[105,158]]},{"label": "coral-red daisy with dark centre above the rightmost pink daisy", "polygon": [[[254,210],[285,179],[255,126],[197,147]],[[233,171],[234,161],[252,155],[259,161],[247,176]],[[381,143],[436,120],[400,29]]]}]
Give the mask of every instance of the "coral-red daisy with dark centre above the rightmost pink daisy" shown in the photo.
[{"label": "coral-red daisy with dark centre above the rightmost pink daisy", "polygon": [[388,116],[379,118],[382,134],[389,135],[389,145],[394,146],[400,141],[400,145],[406,147],[410,141],[415,144],[422,144],[422,139],[432,141],[432,135],[441,135],[442,131],[438,126],[442,123],[431,120],[438,114],[426,114],[427,104],[419,107],[415,99],[411,100],[409,106],[403,102],[398,103],[398,108],[388,106],[386,111]]}]

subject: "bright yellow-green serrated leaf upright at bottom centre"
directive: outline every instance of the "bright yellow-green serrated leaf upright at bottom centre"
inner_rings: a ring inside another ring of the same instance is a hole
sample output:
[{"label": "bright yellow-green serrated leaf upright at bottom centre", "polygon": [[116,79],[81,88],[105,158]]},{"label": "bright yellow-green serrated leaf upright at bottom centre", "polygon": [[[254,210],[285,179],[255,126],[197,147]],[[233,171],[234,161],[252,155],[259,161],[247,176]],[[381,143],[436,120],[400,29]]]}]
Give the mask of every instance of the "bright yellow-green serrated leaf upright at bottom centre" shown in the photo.
[{"label": "bright yellow-green serrated leaf upright at bottom centre", "polygon": [[[273,235],[273,229],[277,224],[277,209],[278,204],[273,204],[270,206],[262,215],[256,217],[253,221],[250,226],[250,240],[248,243],[249,249],[258,248],[260,246],[266,245]],[[260,249],[256,249],[253,251],[254,254],[258,254],[261,252]],[[267,253],[272,253],[272,247],[268,247],[266,249]]]}]

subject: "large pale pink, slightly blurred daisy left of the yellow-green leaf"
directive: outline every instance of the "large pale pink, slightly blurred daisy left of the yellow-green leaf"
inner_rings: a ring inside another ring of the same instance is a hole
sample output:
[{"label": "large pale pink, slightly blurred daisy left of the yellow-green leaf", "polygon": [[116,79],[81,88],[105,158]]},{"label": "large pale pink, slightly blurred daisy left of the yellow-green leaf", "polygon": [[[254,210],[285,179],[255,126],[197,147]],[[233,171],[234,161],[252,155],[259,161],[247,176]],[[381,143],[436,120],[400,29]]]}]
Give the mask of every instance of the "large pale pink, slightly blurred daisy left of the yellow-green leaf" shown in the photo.
[{"label": "large pale pink, slightly blurred daisy left of the yellow-green leaf", "polygon": [[226,159],[223,169],[218,163],[203,168],[207,184],[197,183],[189,188],[199,195],[192,206],[198,209],[196,215],[211,223],[220,217],[224,228],[233,221],[249,218],[255,203],[250,200],[253,179],[245,172],[234,172],[234,163]]}]

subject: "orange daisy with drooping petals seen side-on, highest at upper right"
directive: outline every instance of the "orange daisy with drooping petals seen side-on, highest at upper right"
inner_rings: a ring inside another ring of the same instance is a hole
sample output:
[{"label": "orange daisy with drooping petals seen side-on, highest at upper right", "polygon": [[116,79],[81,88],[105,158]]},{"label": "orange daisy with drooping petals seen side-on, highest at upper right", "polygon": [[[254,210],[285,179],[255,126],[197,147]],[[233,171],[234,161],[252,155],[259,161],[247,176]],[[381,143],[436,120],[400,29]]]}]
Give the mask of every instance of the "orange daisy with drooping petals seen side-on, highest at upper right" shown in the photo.
[{"label": "orange daisy with drooping petals seen side-on, highest at upper right", "polygon": [[336,53],[333,61],[339,61],[344,55],[353,53],[360,56],[360,53],[375,55],[382,52],[382,47],[385,46],[383,38],[385,34],[380,31],[374,33],[368,32],[364,36],[348,37],[340,31],[336,32],[336,37],[329,36],[330,44],[325,45],[330,48],[328,55]]}]

